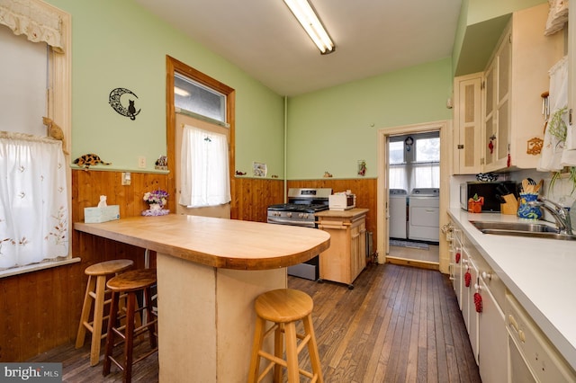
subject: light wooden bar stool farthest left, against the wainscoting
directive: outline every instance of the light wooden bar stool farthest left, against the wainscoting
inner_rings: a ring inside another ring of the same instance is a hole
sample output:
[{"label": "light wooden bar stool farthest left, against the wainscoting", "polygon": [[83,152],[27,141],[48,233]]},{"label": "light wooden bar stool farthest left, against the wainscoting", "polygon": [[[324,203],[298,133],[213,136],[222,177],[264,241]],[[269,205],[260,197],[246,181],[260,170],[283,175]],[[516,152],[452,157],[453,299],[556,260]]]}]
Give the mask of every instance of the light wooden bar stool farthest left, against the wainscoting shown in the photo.
[{"label": "light wooden bar stool farthest left, against the wainscoting", "polygon": [[[106,289],[106,280],[114,275],[132,268],[134,263],[129,259],[115,259],[102,263],[95,263],[86,267],[85,274],[88,276],[88,284],[84,295],[80,324],[76,334],[76,349],[82,347],[85,342],[86,330],[92,333],[92,345],[90,346],[90,365],[94,366],[100,361],[100,344],[106,334],[102,334],[104,319],[104,305],[110,303],[105,295],[110,292]],[[90,312],[94,302],[94,315],[90,321]]]}]

